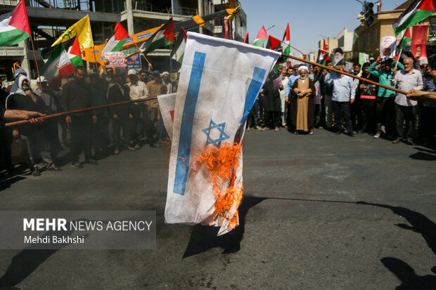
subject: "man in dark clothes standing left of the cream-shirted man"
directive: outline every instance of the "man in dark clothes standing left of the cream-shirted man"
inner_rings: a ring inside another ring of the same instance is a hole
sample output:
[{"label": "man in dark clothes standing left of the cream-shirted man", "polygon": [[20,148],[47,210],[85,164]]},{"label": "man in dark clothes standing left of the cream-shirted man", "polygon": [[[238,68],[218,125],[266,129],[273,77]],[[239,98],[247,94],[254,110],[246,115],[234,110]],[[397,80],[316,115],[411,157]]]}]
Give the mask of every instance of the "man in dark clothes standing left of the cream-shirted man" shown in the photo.
[{"label": "man in dark clothes standing left of the cream-shirted man", "polygon": [[[130,100],[129,91],[129,86],[126,84],[125,72],[123,70],[115,70],[115,84],[110,86],[108,90],[108,103],[120,103]],[[124,135],[124,147],[129,151],[135,151],[135,148],[130,146],[129,119],[133,117],[130,113],[130,104],[109,107],[109,112],[113,124],[114,154],[120,153],[121,128]]]}]

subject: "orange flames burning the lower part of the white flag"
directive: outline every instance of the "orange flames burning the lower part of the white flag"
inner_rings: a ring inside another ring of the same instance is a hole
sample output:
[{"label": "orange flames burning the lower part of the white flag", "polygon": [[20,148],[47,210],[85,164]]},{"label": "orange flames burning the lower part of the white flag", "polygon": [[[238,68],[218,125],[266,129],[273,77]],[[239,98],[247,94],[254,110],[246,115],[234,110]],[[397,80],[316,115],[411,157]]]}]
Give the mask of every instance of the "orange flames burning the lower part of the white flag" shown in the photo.
[{"label": "orange flames burning the lower part of the white flag", "polygon": [[227,228],[230,230],[238,225],[237,209],[242,200],[242,185],[235,187],[235,171],[239,165],[241,150],[242,146],[239,143],[226,143],[220,148],[210,146],[199,158],[199,162],[210,171],[210,181],[217,197],[211,220],[228,220]]}]

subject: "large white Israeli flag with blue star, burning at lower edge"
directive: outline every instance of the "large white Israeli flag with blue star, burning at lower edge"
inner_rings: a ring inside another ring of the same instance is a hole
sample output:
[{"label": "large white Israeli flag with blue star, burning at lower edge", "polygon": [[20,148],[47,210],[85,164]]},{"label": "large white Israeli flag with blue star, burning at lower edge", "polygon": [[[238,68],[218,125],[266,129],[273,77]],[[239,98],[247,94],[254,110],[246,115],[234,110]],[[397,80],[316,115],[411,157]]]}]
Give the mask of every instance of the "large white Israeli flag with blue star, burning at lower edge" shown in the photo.
[{"label": "large white Israeli flag with blue star, burning at lower edge", "polygon": [[226,148],[242,140],[252,105],[280,55],[188,32],[174,112],[167,223],[217,225],[221,226],[218,235],[232,229],[230,218],[237,216],[239,203],[231,204],[217,218],[217,190],[233,186],[242,195],[242,152],[238,152],[233,178],[224,188],[214,184],[211,169],[199,162],[199,157],[206,150]]}]

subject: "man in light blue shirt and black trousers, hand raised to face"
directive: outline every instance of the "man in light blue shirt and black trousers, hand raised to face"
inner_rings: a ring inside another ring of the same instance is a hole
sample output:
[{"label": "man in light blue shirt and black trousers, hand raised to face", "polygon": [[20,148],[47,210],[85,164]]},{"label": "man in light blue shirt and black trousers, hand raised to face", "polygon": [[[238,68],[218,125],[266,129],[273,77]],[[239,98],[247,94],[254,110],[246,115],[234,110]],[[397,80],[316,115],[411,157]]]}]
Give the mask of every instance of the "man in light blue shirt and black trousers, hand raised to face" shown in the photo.
[{"label": "man in light blue shirt and black trousers, hand raised to face", "polygon": [[[335,68],[338,70],[344,70],[343,65],[335,65]],[[340,134],[344,131],[344,128],[342,127],[343,117],[348,135],[354,137],[353,125],[350,118],[350,103],[354,103],[354,96],[356,95],[353,79],[344,74],[331,72],[326,74],[324,81],[326,84],[333,83],[332,100],[333,112],[335,112],[334,124],[336,134]]]}]

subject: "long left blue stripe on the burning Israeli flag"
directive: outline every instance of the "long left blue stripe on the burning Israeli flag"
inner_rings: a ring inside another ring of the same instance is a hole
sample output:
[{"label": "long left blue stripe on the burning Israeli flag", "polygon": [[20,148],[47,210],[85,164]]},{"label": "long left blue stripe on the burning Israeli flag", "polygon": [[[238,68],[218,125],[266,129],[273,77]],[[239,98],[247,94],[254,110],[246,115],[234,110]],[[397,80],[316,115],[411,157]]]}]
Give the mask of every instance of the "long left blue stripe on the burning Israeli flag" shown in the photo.
[{"label": "long left blue stripe on the burning Israeli flag", "polygon": [[195,107],[200,91],[201,75],[205,65],[205,53],[195,51],[194,60],[186,93],[183,116],[181,117],[179,152],[177,154],[176,176],[173,192],[184,195],[186,181],[188,180],[189,159],[191,157],[192,126]]}]

